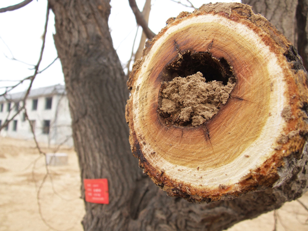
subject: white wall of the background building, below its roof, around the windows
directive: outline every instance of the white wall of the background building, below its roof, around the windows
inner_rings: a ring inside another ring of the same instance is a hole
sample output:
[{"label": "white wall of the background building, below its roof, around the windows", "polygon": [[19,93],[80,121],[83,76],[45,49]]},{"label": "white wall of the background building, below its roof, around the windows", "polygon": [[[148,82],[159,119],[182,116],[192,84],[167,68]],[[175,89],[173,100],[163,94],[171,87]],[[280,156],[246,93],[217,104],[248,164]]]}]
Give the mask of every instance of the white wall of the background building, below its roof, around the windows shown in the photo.
[{"label": "white wall of the background building, below its roof, around the windows", "polygon": [[[46,109],[46,98],[52,98],[51,109]],[[32,110],[33,100],[35,99],[37,99],[37,109]],[[11,103],[11,108],[13,109],[11,109],[10,112],[7,111],[8,102],[0,102],[0,106],[2,103],[4,104],[4,107],[3,111],[0,111],[0,120],[2,124],[4,124],[8,115],[10,115],[9,118],[11,118],[11,115],[16,113],[16,111],[13,108],[14,103]],[[73,146],[73,140],[71,137],[71,118],[66,95],[43,95],[27,99],[26,111],[29,120],[35,121],[34,133],[38,142]],[[28,120],[24,120],[23,114],[24,111],[21,111],[16,115],[16,117],[9,123],[8,130],[3,128],[0,131],[0,136],[17,139],[33,139],[30,123]],[[13,130],[14,120],[17,121],[16,131]],[[48,134],[43,132],[44,120],[50,121]]]}]

